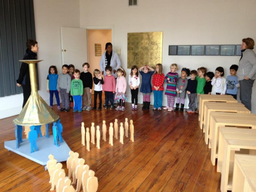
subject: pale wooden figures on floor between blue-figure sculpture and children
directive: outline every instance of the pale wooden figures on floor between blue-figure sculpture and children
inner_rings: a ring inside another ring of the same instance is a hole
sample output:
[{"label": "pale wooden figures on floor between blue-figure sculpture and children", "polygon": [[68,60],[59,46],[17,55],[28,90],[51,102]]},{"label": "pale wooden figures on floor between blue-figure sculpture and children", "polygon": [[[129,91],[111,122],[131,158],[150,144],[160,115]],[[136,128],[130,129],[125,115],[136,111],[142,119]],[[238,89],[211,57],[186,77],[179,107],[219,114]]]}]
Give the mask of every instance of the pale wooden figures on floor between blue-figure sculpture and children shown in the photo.
[{"label": "pale wooden figures on floor between blue-figure sculpture and children", "polygon": [[[125,122],[124,122],[124,127],[123,127],[123,123],[120,123],[120,143],[124,144],[124,130],[125,130],[125,137],[128,137],[128,119],[125,118]],[[111,146],[113,146],[113,135],[116,139],[118,139],[118,124],[117,124],[117,119],[115,119],[115,123],[114,123],[114,129],[113,129],[113,123],[110,123],[110,127],[109,127],[109,144]],[[82,126],[81,126],[81,133],[82,133],[82,144],[85,146],[85,138],[86,138],[86,149],[88,151],[90,151],[90,132],[89,132],[89,128],[86,128],[86,134],[85,134],[85,129],[84,129],[84,122],[82,122]],[[103,120],[103,124],[102,124],[102,140],[107,141],[106,140],[106,133],[107,133],[107,126],[106,126],[106,121]],[[133,121],[130,120],[130,140],[132,140],[132,142],[134,142],[134,126],[133,126]],[[85,137],[86,135],[86,137]],[[98,149],[100,149],[100,126],[96,126],[96,147]],[[91,126],[91,142],[92,144],[95,144],[95,127],[94,127],[94,123],[92,123]]]}]

